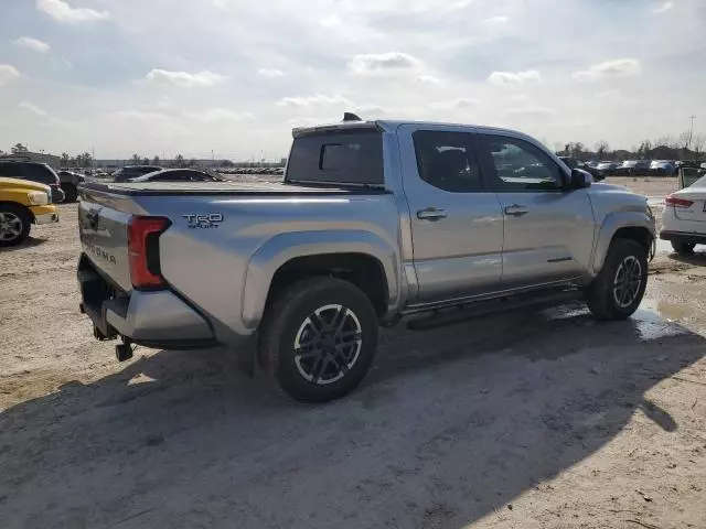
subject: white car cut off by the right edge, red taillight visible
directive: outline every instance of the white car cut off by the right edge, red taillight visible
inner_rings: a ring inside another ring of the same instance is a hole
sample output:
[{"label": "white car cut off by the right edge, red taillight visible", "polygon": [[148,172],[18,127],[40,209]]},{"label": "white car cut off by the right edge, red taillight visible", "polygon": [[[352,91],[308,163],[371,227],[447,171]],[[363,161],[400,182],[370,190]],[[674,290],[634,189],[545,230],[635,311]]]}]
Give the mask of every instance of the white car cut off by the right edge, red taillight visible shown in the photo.
[{"label": "white car cut off by the right edge, red taillight visible", "polygon": [[696,245],[706,245],[706,176],[666,197],[660,238],[683,256],[692,255]]}]

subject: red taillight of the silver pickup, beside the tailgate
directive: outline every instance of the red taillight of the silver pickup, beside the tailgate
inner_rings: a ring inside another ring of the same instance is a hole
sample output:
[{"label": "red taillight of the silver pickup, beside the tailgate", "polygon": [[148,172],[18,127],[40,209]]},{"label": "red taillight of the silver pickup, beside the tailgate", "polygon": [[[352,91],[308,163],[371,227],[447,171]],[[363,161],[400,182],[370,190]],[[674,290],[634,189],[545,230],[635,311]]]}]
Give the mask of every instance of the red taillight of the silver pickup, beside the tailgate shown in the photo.
[{"label": "red taillight of the silver pickup, beside the tailgate", "polygon": [[164,217],[138,217],[128,225],[128,257],[130,279],[136,289],[156,289],[164,285],[159,269],[158,239],[170,225]]}]

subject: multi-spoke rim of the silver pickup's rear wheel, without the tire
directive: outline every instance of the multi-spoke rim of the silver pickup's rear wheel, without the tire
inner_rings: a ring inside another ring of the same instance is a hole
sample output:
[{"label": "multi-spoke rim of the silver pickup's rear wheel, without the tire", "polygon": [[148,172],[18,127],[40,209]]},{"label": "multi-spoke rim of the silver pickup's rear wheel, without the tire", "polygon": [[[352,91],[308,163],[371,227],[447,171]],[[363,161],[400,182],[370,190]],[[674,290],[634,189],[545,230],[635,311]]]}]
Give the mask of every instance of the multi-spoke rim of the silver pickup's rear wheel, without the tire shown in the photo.
[{"label": "multi-spoke rim of the silver pickup's rear wheel, without the tire", "polygon": [[361,355],[361,322],[343,305],[321,306],[301,323],[293,345],[297,370],[306,380],[333,384],[345,377]]}]

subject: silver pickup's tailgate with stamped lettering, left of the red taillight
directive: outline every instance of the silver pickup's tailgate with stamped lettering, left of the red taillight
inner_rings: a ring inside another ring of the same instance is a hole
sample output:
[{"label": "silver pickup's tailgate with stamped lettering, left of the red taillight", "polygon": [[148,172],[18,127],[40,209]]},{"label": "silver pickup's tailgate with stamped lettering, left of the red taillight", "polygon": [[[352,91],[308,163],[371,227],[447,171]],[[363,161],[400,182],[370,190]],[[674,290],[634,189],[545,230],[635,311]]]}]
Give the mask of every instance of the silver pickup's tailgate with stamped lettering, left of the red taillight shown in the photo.
[{"label": "silver pickup's tailgate with stamped lettering, left of the red taillight", "polygon": [[[116,204],[113,204],[114,206]],[[132,290],[128,259],[128,224],[132,214],[87,194],[78,205],[78,233],[95,267],[125,292]]]}]

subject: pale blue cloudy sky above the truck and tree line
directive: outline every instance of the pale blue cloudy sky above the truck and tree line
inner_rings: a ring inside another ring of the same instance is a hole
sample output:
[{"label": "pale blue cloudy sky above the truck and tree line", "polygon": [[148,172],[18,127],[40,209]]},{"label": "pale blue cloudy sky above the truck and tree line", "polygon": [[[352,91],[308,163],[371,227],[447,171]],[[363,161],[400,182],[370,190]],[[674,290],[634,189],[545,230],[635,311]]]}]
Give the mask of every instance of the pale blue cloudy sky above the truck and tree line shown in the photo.
[{"label": "pale blue cloudy sky above the truck and tree line", "polygon": [[0,149],[275,159],[365,118],[706,132],[705,0],[2,0]]}]

